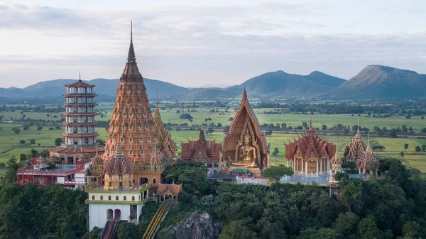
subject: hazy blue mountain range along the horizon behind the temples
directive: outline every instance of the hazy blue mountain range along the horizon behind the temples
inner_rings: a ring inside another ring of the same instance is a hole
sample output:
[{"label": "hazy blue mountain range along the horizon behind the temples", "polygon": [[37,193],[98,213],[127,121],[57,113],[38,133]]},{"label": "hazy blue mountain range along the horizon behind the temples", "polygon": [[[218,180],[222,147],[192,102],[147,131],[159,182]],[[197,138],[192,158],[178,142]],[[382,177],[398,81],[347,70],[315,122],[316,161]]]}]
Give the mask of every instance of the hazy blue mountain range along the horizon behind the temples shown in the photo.
[{"label": "hazy blue mountain range along the horizon behind the temples", "polygon": [[[219,99],[241,96],[246,88],[249,97],[259,99],[413,99],[426,96],[426,74],[381,65],[368,65],[349,80],[322,72],[308,75],[289,74],[278,70],[268,72],[231,87],[185,88],[155,79],[143,79],[150,99]],[[0,88],[6,98],[60,99],[64,85],[75,79],[54,79],[25,88]],[[97,101],[113,101],[119,79],[92,79]]]}]

